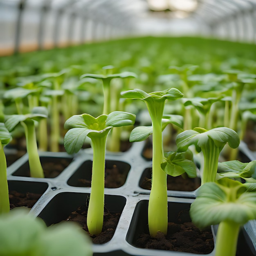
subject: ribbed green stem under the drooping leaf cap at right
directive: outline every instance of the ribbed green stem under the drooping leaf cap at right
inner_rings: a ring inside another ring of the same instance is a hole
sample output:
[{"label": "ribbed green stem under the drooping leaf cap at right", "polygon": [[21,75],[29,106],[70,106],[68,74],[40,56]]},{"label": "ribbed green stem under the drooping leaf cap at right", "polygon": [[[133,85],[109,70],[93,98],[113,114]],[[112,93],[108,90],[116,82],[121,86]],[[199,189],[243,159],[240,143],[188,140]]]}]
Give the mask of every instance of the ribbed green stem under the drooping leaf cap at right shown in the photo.
[{"label": "ribbed green stem under the drooping leaf cap at right", "polygon": [[204,155],[204,169],[201,185],[206,182],[215,182],[220,149],[215,145],[213,139],[209,137],[207,144],[202,146],[202,153]]}]

